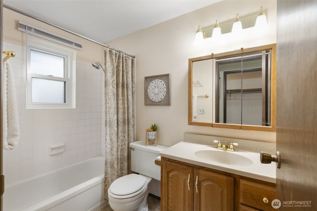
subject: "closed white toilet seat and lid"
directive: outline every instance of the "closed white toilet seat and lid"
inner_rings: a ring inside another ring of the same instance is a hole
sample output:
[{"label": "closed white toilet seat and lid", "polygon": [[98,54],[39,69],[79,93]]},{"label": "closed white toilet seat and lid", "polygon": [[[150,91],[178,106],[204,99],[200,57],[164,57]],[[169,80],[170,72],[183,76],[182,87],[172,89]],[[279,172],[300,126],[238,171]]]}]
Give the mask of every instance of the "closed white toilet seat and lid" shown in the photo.
[{"label": "closed white toilet seat and lid", "polygon": [[147,188],[147,179],[144,176],[132,173],[114,180],[108,193],[116,199],[127,199],[134,197]]}]

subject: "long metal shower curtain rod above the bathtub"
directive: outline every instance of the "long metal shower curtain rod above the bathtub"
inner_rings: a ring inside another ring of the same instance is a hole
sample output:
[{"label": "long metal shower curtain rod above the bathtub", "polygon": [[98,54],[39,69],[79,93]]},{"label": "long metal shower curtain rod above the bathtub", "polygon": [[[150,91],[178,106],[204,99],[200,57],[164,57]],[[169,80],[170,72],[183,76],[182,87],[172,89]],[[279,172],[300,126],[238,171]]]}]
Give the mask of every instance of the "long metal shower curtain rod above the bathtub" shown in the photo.
[{"label": "long metal shower curtain rod above the bathtub", "polygon": [[19,9],[16,9],[16,8],[14,8],[14,7],[12,7],[12,6],[9,6],[9,5],[7,5],[7,4],[3,4],[3,7],[4,7],[4,8],[7,8],[7,9],[10,9],[10,10],[12,10],[12,11],[14,11],[14,12],[20,13],[20,14],[22,14],[22,15],[25,15],[25,16],[27,16],[27,17],[29,17],[29,18],[38,20],[38,21],[40,21],[40,22],[42,22],[42,23],[46,23],[46,24],[48,24],[48,25],[50,25],[50,26],[53,26],[53,27],[55,27],[55,28],[57,28],[57,29],[60,29],[60,30],[62,30],[62,31],[64,31],[64,32],[68,32],[68,33],[70,33],[70,34],[72,34],[72,35],[75,35],[75,36],[77,36],[77,37],[83,38],[83,39],[88,40],[88,41],[90,41],[90,42],[94,42],[94,43],[99,44],[99,45],[102,45],[102,46],[104,46],[104,47],[108,47],[108,48],[110,48],[110,49],[112,49],[112,50],[115,50],[115,51],[117,51],[117,52],[124,53],[124,54],[127,55],[127,56],[130,56],[130,57],[132,57],[132,58],[135,58],[134,55],[125,53],[125,52],[123,52],[122,50],[116,49],[116,48],[114,48],[114,47],[110,47],[109,45],[106,45],[106,44],[103,44],[103,43],[94,41],[94,40],[92,40],[92,39],[89,39],[89,38],[87,38],[87,37],[84,37],[84,36],[82,36],[82,35],[79,35],[79,34],[77,34],[77,33],[75,33],[75,32],[69,31],[69,30],[67,30],[67,29],[65,29],[65,28],[62,28],[62,27],[60,27],[60,26],[57,26],[57,25],[55,25],[55,24],[53,24],[53,23],[50,23],[50,22],[48,22],[48,21],[46,21],[46,20],[43,20],[43,19],[41,19],[41,18],[38,18],[38,17],[36,17],[36,16],[34,16],[34,15],[31,15],[31,14],[28,14],[28,13],[26,13],[26,12],[23,12],[23,11],[21,11],[21,10],[19,10]]}]

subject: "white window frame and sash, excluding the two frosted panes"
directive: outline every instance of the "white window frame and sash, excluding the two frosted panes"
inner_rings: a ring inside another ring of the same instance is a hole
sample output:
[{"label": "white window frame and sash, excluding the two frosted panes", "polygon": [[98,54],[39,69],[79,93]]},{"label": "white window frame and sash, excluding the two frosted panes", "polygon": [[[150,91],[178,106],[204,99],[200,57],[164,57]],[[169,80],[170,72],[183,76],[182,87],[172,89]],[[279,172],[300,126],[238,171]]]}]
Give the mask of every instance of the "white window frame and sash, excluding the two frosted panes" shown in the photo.
[{"label": "white window frame and sash, excluding the two frosted panes", "polygon": [[[31,39],[26,47],[26,109],[65,109],[76,106],[76,51],[50,42]],[[31,50],[64,58],[64,77],[31,73]],[[65,82],[65,103],[32,102],[32,78]]]}]

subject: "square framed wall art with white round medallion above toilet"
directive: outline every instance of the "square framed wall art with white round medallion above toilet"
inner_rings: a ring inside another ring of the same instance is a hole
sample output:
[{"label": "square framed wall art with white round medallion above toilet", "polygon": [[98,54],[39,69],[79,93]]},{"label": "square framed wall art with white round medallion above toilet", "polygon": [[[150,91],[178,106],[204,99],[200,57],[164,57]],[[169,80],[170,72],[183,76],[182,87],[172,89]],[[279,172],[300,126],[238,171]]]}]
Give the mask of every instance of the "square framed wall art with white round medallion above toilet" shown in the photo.
[{"label": "square framed wall art with white round medallion above toilet", "polygon": [[170,74],[144,77],[144,104],[170,105]]}]

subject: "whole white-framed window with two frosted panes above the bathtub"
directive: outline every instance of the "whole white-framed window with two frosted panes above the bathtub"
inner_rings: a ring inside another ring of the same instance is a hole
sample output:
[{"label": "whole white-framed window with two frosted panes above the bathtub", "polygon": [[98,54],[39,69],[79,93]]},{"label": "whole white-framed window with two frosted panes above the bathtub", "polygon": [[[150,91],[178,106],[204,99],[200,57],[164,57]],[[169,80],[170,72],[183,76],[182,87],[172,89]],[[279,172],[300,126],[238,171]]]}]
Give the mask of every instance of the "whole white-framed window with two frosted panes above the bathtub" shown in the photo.
[{"label": "whole white-framed window with two frosted panes above the bathtub", "polygon": [[76,52],[32,40],[27,47],[27,109],[75,108]]}]

